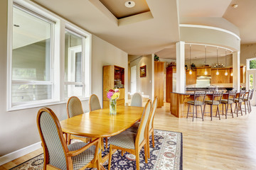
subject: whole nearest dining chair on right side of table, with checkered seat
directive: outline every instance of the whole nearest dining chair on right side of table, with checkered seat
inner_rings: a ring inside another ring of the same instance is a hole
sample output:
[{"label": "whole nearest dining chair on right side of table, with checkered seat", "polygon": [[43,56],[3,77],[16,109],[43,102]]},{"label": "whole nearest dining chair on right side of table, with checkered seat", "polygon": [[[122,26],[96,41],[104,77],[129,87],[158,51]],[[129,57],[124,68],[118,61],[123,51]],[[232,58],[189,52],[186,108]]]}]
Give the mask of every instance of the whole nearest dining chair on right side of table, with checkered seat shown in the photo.
[{"label": "whole nearest dining chair on right side of table, with checkered seat", "polygon": [[136,167],[139,170],[139,152],[144,147],[144,156],[145,162],[148,163],[149,151],[147,150],[147,133],[149,130],[149,118],[151,114],[151,101],[149,100],[144,107],[144,111],[142,113],[141,123],[139,124],[138,132],[133,133],[129,131],[124,131],[119,133],[118,135],[114,135],[110,137],[110,157],[108,169],[111,167],[111,159],[112,159],[112,149],[120,149],[124,152],[129,152],[131,154],[135,154],[136,156]]}]

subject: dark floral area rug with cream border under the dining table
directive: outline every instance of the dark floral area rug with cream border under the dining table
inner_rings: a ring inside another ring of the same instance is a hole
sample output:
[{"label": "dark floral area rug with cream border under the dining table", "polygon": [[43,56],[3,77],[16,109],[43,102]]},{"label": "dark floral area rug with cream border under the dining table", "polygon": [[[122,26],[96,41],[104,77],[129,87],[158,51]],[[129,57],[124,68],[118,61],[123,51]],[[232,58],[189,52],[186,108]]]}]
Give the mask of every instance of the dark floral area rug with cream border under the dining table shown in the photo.
[{"label": "dark floral area rug with cream border under the dining table", "polygon": [[[182,170],[182,133],[166,130],[154,130],[155,147],[152,147],[150,137],[150,159],[146,164],[144,160],[144,148],[139,154],[139,167],[142,170]],[[73,141],[76,142],[76,141]],[[102,157],[108,154],[109,150],[102,152]],[[103,166],[107,169],[108,161]],[[43,154],[34,157],[23,164],[15,166],[12,170],[39,170],[43,169]],[[122,157],[121,151],[112,154],[111,169],[132,170],[136,169],[135,156],[125,153]],[[92,169],[90,169],[92,170]],[[94,170],[94,169],[93,169]]]}]

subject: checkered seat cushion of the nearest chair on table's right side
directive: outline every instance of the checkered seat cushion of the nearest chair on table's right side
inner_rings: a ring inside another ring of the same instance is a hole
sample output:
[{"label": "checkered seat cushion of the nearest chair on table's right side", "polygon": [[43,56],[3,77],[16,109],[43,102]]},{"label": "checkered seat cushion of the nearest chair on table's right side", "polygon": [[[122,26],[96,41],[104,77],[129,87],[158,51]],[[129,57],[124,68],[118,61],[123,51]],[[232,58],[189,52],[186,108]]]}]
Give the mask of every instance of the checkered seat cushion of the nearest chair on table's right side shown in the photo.
[{"label": "checkered seat cushion of the nearest chair on table's right side", "polygon": [[114,145],[117,147],[135,149],[135,139],[136,134],[134,134],[133,132],[124,131],[119,133],[118,135],[110,137],[108,142],[110,143],[110,145]]}]

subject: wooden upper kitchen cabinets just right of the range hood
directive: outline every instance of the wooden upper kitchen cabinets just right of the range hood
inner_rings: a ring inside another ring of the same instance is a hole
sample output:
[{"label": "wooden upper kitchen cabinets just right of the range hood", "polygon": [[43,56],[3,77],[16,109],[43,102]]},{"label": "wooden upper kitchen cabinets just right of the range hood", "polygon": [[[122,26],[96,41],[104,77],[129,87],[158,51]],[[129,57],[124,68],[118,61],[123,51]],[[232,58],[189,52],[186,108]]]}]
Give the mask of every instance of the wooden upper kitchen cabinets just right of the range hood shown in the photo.
[{"label": "wooden upper kitchen cabinets just right of the range hood", "polygon": [[[211,84],[229,84],[230,83],[230,69],[229,68],[220,68],[218,69],[219,74],[217,75],[217,69],[211,70]],[[225,72],[228,72],[228,75],[225,76]]]}]

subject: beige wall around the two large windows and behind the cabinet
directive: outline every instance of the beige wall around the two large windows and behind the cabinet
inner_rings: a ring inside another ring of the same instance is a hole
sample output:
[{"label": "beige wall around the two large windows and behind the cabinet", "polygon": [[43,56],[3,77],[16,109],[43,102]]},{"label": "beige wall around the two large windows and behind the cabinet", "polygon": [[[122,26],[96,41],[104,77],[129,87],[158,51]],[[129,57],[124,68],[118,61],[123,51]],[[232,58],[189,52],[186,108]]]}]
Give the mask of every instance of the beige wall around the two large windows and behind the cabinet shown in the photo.
[{"label": "beige wall around the two large windows and behind the cabinet", "polygon": [[[0,157],[23,147],[40,142],[36,126],[36,115],[39,108],[19,111],[6,111],[6,80],[7,80],[7,0],[0,1]],[[97,94],[102,101],[102,66],[117,64],[127,71],[127,53],[119,50],[108,42],[92,36],[92,93]],[[127,72],[125,74],[127,80]],[[127,81],[125,83],[127,87]],[[82,101],[85,111],[88,102]],[[58,116],[59,120],[67,118],[65,103],[48,106]]]}]

